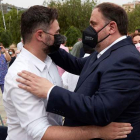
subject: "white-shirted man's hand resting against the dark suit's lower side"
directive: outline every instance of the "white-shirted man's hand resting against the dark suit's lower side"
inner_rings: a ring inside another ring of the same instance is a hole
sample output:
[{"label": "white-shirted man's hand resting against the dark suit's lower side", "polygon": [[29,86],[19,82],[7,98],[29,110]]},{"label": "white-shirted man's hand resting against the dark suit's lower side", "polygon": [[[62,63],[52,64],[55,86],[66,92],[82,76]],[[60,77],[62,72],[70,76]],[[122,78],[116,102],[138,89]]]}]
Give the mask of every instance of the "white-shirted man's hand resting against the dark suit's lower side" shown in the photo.
[{"label": "white-shirted man's hand resting against the dark suit's lower side", "polygon": [[97,128],[99,138],[105,140],[126,138],[127,135],[130,134],[131,130],[133,129],[130,123],[116,123],[116,122],[112,122],[104,127],[97,126]]}]

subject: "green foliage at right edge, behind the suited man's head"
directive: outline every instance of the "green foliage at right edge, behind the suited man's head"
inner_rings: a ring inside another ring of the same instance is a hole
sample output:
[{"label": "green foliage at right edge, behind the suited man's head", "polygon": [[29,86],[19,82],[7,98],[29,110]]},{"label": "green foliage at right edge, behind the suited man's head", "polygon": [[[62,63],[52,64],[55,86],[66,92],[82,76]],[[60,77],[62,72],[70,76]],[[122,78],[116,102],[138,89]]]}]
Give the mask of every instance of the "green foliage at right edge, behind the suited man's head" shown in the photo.
[{"label": "green foliage at right edge, behind the suited man's head", "polygon": [[140,28],[140,6],[136,6],[136,8],[132,12],[128,12],[128,32],[133,33],[135,29]]}]

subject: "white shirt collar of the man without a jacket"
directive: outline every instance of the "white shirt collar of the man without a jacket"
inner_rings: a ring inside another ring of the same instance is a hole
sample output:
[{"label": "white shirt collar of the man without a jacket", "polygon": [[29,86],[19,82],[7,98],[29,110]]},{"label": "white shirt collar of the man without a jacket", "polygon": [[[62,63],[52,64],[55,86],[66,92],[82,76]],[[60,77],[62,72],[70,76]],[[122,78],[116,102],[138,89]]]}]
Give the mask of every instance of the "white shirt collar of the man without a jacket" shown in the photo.
[{"label": "white shirt collar of the man without a jacket", "polygon": [[43,62],[25,48],[22,49],[20,56],[24,58],[26,57],[26,59],[31,61],[41,72],[44,70],[45,67],[49,69],[52,63],[52,60],[49,56],[47,56],[45,61]]}]

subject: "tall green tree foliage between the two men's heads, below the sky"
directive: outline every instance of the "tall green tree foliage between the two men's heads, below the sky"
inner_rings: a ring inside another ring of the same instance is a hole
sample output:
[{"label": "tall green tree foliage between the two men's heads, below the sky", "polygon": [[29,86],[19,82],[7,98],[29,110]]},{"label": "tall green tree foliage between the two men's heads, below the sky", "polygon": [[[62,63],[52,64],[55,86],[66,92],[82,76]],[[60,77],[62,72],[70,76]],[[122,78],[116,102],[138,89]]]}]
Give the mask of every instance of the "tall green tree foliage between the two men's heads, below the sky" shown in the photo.
[{"label": "tall green tree foliage between the two men's heads, below the sky", "polygon": [[63,0],[48,3],[49,7],[58,10],[58,21],[61,27],[61,33],[65,33],[70,26],[78,28],[80,31],[89,25],[89,19],[95,0]]}]

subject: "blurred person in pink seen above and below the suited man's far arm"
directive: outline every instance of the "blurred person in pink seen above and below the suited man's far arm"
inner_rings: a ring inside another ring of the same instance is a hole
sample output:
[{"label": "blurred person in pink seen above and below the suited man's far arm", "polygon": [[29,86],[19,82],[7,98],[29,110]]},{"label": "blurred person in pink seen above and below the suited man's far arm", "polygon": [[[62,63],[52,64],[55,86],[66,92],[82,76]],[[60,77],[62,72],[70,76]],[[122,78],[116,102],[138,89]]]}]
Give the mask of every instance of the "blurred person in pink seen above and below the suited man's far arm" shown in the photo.
[{"label": "blurred person in pink seen above and below the suited man's far arm", "polygon": [[[60,45],[60,48],[61,49],[64,49],[66,52],[69,52],[69,49],[68,47],[66,47],[66,43],[67,43],[67,37],[66,36],[62,36],[62,39],[63,39],[63,44]],[[62,69],[61,67],[57,66],[58,68],[58,73],[60,76],[62,76],[62,74],[65,72],[64,69]]]}]

